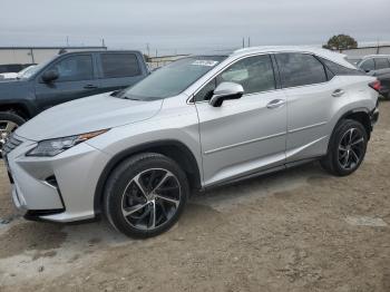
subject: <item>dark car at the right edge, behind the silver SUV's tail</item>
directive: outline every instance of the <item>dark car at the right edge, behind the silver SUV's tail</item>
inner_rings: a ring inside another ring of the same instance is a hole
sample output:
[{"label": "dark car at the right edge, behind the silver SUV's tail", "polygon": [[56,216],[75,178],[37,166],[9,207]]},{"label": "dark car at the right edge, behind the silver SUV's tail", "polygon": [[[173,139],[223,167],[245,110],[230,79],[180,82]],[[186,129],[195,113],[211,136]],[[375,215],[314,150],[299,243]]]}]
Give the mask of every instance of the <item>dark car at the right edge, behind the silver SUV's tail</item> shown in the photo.
[{"label": "dark car at the right edge, behind the silver SUV's tail", "polygon": [[380,94],[390,99],[390,55],[365,56],[358,67],[381,81]]}]

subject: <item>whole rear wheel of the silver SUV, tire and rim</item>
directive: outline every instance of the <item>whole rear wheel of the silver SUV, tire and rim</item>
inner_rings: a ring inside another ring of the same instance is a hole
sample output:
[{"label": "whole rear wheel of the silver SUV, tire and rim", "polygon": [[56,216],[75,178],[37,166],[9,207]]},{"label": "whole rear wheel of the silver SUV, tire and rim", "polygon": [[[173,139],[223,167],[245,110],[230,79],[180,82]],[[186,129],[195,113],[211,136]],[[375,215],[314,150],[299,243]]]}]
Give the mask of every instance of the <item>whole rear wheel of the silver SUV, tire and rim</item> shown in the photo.
[{"label": "whole rear wheel of the silver SUV, tire and rim", "polygon": [[361,123],[341,120],[329,142],[328,154],[321,160],[322,167],[337,176],[352,174],[363,162],[367,142],[368,134]]}]

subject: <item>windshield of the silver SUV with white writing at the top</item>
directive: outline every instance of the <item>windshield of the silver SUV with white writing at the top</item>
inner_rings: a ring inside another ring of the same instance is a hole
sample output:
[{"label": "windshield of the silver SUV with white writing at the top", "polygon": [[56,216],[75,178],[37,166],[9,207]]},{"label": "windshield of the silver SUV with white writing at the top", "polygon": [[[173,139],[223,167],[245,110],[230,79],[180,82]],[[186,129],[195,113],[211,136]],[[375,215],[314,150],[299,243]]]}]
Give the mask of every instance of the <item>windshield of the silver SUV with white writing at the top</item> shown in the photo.
[{"label": "windshield of the silver SUV with white writing at the top", "polygon": [[174,61],[149,75],[118,97],[136,100],[156,100],[176,96],[208,72],[225,56],[188,57]]}]

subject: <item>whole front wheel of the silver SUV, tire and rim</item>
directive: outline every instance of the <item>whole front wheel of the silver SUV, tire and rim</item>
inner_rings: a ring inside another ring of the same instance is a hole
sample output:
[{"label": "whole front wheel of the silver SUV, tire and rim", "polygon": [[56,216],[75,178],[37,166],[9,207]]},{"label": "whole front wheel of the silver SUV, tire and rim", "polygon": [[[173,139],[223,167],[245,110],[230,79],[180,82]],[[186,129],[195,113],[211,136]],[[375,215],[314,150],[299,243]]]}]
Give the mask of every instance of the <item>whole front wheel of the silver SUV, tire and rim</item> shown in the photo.
[{"label": "whole front wheel of the silver SUV, tire and rim", "polygon": [[183,169],[155,153],[133,156],[117,166],[105,188],[105,214],[130,237],[152,237],[170,228],[189,195]]}]

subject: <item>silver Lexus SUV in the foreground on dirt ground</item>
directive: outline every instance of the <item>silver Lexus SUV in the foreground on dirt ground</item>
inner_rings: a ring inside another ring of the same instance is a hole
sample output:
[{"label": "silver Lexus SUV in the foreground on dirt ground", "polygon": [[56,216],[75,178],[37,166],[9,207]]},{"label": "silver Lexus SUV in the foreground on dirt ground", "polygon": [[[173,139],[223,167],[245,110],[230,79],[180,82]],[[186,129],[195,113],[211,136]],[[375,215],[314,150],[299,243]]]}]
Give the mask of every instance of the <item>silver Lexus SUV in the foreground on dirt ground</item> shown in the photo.
[{"label": "silver Lexus SUV in the foreground on dirt ground", "polygon": [[104,214],[137,237],[169,228],[194,189],[312,159],[362,163],[380,84],[310,48],[248,48],[177,60],[119,93],[62,104],[4,146],[26,217]]}]

